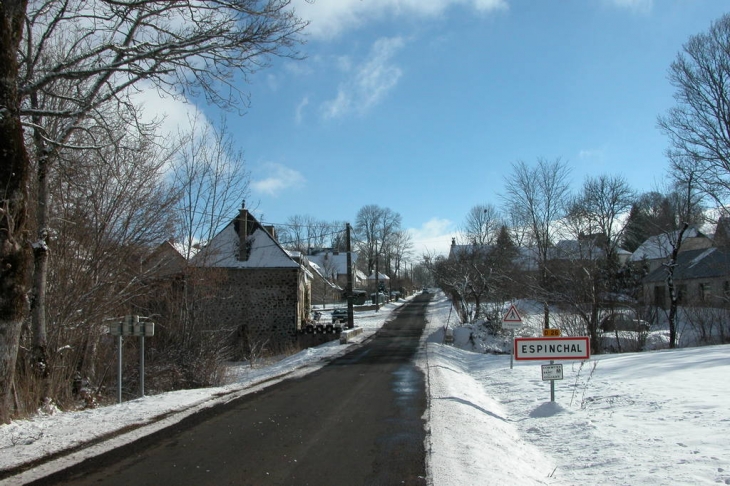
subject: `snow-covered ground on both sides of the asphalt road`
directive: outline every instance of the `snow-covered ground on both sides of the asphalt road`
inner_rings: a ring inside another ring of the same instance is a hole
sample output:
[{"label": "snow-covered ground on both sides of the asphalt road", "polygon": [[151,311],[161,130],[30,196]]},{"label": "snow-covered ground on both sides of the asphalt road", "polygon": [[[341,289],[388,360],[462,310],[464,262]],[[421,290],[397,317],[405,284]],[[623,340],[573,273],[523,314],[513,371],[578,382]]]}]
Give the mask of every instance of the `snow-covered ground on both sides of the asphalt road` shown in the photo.
[{"label": "snow-covered ground on both sides of the asphalt road", "polygon": [[[401,302],[402,304],[402,302]],[[361,341],[397,304],[358,314]],[[526,322],[530,316],[523,316]],[[564,362],[555,402],[541,362],[441,344],[454,324],[438,293],[419,365],[427,372],[428,469],[442,485],[730,484],[730,346]],[[457,344],[459,340],[457,339]],[[134,425],[111,440],[6,479],[23,484],[278,379],[311,372],[348,346],[330,343],[270,366],[231,369],[231,384],[0,426],[0,470]]]}]

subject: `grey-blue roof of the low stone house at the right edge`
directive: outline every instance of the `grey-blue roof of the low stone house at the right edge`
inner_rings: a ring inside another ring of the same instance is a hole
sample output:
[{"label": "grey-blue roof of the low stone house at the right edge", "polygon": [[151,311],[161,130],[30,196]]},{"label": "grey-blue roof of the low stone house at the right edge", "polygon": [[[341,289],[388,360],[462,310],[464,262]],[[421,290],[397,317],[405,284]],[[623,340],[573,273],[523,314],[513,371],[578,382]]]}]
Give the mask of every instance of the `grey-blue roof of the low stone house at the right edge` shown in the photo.
[{"label": "grey-blue roof of the low stone house at the right edge", "polygon": [[[693,280],[730,276],[730,250],[726,248],[705,248],[688,250],[677,255],[674,268],[675,280]],[[663,282],[667,278],[665,267],[659,267],[644,277],[644,282]]]}]

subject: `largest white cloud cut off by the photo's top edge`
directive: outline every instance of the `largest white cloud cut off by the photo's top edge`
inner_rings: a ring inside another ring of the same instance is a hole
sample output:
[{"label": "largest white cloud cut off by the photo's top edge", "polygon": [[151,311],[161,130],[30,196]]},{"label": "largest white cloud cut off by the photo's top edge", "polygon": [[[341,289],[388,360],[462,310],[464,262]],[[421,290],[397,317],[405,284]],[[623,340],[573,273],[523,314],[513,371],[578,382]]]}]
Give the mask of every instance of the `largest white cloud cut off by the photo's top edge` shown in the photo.
[{"label": "largest white cloud cut off by the photo's top edge", "polygon": [[385,17],[438,17],[455,5],[482,13],[508,8],[507,0],[293,0],[292,5],[297,15],[311,22],[308,34],[321,39]]}]

